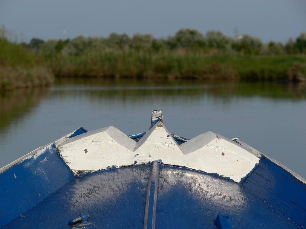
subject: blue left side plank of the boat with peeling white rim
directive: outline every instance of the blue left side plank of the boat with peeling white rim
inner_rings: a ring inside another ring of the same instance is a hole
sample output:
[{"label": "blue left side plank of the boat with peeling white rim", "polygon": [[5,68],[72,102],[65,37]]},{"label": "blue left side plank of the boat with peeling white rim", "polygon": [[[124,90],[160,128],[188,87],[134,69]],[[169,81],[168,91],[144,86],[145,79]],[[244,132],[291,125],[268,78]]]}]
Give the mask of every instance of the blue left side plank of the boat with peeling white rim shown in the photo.
[{"label": "blue left side plank of the boat with peeling white rim", "polygon": [[0,169],[0,227],[73,179],[56,146],[86,131],[76,129],[54,144],[39,147]]}]

